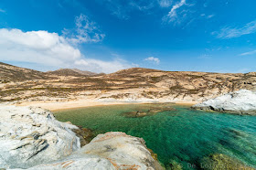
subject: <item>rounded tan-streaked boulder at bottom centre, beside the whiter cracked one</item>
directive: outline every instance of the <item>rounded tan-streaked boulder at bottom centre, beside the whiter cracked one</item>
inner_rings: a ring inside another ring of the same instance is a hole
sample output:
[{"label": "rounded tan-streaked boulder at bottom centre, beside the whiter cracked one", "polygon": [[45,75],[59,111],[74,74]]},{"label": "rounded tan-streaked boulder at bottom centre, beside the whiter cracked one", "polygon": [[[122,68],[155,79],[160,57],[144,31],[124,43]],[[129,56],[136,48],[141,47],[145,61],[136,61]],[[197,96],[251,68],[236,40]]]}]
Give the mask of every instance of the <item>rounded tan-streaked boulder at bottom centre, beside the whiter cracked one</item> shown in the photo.
[{"label": "rounded tan-streaked boulder at bottom centre, beside the whiter cracked one", "polygon": [[95,137],[77,152],[48,165],[29,170],[59,169],[162,169],[144,145],[144,140],[125,133],[104,133]]}]

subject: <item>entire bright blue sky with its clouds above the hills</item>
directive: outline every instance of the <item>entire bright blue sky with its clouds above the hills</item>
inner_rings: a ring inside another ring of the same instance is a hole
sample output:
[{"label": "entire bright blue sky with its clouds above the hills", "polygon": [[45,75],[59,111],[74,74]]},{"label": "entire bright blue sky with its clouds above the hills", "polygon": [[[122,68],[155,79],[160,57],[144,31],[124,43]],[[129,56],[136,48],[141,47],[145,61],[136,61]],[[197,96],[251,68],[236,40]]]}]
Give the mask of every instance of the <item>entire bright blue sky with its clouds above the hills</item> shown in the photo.
[{"label": "entire bright blue sky with its clouds above the hills", "polygon": [[43,71],[256,71],[255,6],[255,0],[0,0],[0,60]]}]

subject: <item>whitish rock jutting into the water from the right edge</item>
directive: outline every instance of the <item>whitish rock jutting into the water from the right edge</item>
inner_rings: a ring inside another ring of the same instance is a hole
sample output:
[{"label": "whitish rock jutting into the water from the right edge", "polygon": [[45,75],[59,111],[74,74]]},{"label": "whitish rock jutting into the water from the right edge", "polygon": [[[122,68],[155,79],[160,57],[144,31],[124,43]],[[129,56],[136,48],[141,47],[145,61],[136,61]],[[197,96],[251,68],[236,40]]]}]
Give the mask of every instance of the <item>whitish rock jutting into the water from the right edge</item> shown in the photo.
[{"label": "whitish rock jutting into the water from the right edge", "polygon": [[238,90],[192,106],[204,111],[256,114],[256,92]]}]

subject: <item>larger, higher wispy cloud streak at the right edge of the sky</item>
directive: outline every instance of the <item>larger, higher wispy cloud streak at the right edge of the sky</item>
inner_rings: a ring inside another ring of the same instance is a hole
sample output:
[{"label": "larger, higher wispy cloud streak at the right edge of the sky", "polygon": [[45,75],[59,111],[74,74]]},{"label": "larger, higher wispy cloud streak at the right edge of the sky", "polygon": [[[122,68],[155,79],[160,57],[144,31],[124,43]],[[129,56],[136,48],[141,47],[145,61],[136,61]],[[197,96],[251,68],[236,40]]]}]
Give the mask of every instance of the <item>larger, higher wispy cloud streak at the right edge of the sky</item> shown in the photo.
[{"label": "larger, higher wispy cloud streak at the right edge of the sky", "polygon": [[241,37],[256,32],[256,20],[246,24],[244,27],[223,27],[219,32],[213,32],[221,39],[229,39],[233,37]]}]

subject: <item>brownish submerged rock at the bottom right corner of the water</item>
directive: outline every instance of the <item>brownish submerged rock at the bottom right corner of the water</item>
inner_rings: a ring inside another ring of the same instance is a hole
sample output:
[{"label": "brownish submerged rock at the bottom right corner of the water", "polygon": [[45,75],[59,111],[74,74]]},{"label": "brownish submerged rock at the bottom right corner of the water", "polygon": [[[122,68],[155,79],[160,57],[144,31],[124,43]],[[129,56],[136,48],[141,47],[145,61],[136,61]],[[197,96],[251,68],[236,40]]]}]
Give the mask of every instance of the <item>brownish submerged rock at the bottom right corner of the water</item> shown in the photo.
[{"label": "brownish submerged rock at the bottom right corner of the water", "polygon": [[200,168],[206,170],[253,170],[254,168],[242,164],[239,160],[229,157],[226,154],[212,154],[207,158],[204,158]]}]

